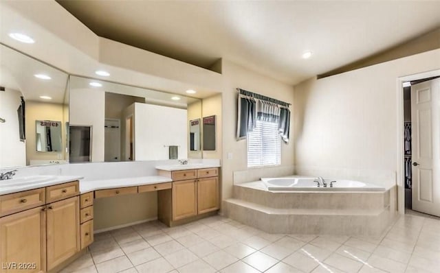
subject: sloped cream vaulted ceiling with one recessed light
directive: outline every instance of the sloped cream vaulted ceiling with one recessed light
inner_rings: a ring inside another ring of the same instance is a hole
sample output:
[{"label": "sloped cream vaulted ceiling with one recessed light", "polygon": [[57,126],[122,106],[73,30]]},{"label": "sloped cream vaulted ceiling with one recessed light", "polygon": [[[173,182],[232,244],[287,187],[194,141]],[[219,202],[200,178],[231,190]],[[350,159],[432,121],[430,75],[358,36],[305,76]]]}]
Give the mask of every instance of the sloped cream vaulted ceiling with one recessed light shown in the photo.
[{"label": "sloped cream vaulted ceiling with one recessed light", "polygon": [[226,58],[289,84],[440,26],[440,1],[58,3],[98,36],[208,69]]}]

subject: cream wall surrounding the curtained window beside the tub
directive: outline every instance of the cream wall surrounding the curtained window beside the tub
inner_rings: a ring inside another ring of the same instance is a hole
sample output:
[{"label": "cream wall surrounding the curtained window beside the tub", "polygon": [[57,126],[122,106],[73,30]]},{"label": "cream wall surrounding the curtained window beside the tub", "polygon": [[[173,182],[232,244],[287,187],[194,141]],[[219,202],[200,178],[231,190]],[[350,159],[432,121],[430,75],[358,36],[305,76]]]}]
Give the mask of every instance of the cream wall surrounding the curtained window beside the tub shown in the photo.
[{"label": "cream wall surrounding the curtained window beside the tub", "polygon": [[[222,93],[222,194],[223,200],[232,196],[232,185],[234,182],[234,171],[245,170],[246,174],[256,173],[255,169],[248,169],[248,145],[245,140],[236,141],[236,116],[237,116],[237,96],[236,88],[243,88],[248,91],[273,97],[284,102],[293,104],[294,88],[288,84],[283,84],[265,75],[255,73],[244,67],[240,67],[228,60],[223,60],[223,93]],[[203,108],[205,107],[203,102]],[[292,110],[292,106],[290,108]],[[291,117],[291,141],[289,144],[281,143],[281,166],[266,167],[271,175],[285,175],[286,167],[292,170],[294,165],[294,139],[292,134]],[[228,158],[230,154],[230,158]],[[264,173],[265,171],[257,171]],[[246,174],[244,176],[246,176]],[[248,176],[251,177],[251,176]],[[243,180],[242,180],[243,182]]]}]

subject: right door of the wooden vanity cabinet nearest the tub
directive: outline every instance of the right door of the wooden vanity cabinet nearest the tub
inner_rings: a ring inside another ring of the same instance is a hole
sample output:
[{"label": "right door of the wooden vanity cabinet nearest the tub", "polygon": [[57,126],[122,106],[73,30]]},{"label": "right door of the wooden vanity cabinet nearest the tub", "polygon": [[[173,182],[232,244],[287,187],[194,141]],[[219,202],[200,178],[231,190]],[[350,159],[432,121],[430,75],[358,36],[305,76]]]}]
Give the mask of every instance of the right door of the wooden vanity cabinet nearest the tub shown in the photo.
[{"label": "right door of the wooden vanity cabinet nearest the tub", "polygon": [[219,209],[219,178],[200,178],[197,182],[197,213]]}]

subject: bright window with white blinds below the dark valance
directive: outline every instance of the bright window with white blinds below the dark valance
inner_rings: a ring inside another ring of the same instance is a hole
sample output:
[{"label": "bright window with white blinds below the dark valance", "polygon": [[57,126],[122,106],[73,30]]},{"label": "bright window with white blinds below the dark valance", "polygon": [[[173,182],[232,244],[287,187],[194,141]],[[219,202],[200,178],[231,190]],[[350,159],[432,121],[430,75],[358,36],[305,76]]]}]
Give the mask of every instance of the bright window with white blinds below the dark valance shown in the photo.
[{"label": "bright window with white blinds below the dark valance", "polygon": [[248,132],[248,167],[281,164],[281,137],[278,123],[256,121],[252,132]]}]

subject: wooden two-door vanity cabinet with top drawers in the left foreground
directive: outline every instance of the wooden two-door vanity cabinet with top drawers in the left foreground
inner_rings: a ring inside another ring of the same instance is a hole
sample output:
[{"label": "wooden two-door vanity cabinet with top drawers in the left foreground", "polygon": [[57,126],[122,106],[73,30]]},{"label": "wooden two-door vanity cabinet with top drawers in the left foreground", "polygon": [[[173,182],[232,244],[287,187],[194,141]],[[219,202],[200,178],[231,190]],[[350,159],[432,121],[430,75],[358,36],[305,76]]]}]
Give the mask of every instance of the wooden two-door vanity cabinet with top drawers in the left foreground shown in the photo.
[{"label": "wooden two-door vanity cabinet with top drawers in the left foreground", "polygon": [[78,181],[1,195],[0,273],[47,272],[79,252],[78,195]]}]

